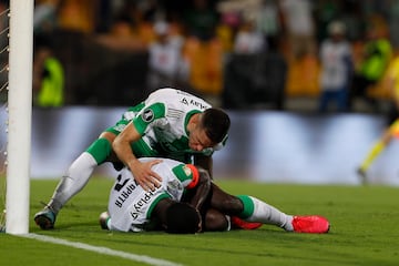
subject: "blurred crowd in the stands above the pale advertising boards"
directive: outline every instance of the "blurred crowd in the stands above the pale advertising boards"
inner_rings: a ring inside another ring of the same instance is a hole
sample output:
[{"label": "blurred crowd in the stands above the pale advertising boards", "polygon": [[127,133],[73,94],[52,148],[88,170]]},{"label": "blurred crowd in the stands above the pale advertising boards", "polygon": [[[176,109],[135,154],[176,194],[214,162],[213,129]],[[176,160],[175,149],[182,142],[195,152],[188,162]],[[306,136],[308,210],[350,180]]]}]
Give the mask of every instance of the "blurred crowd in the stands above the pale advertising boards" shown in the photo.
[{"label": "blurred crowd in the stands above the pale advertising boards", "polygon": [[226,109],[311,98],[319,112],[356,111],[358,99],[378,112],[399,1],[37,0],[33,27],[39,106],[131,105],[175,86]]}]

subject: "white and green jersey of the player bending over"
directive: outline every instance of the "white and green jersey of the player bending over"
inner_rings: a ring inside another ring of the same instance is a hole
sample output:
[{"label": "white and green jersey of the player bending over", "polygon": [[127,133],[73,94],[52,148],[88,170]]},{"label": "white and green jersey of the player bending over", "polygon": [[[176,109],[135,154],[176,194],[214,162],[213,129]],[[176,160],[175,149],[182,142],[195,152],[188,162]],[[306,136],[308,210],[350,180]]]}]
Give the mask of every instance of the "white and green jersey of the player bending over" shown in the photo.
[{"label": "white and green jersey of the player bending over", "polygon": [[[175,89],[161,89],[152,94],[124,117],[133,123],[143,141],[156,156],[185,161],[185,154],[211,155],[213,147],[196,152],[188,146],[186,125],[190,117],[209,109],[211,104],[190,93]],[[135,151],[136,153],[136,151]],[[137,154],[141,156],[141,154]],[[147,154],[145,154],[149,156]]]}]

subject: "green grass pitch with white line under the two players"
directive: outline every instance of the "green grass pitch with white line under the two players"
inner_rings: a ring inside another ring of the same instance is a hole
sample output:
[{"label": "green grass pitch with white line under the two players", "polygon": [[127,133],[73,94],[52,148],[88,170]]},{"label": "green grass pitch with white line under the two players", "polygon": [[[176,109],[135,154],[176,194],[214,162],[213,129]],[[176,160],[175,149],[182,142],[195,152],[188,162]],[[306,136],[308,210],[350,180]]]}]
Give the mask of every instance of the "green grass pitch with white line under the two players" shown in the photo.
[{"label": "green grass pitch with white line under the two players", "polygon": [[[305,186],[218,181],[232,194],[249,194],[289,214],[329,218],[329,234],[293,234],[272,225],[256,231],[170,235],[110,233],[98,217],[106,208],[112,181],[92,178],[61,211],[55,229],[33,222],[57,181],[31,182],[30,233],[104,246],[183,265],[398,265],[398,188]],[[1,265],[147,265],[63,245],[0,234]]]}]

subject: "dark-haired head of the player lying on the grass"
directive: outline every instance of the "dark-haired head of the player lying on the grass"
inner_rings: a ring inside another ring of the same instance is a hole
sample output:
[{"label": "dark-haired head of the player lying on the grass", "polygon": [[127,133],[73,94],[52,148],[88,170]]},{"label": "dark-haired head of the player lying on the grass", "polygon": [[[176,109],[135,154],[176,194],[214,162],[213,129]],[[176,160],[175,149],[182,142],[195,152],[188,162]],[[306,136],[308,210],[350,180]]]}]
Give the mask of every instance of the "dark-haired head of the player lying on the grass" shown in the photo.
[{"label": "dark-haired head of the player lying on the grass", "polygon": [[166,232],[195,234],[200,231],[200,213],[188,204],[174,203],[166,209]]}]

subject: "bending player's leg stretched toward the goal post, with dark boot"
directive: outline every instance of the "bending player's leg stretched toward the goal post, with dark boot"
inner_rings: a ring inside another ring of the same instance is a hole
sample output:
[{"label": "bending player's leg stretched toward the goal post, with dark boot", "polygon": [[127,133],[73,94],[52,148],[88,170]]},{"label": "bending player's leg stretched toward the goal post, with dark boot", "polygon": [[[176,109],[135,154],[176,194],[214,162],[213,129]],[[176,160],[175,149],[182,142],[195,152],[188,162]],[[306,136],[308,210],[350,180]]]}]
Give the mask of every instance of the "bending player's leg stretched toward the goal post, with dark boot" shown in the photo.
[{"label": "bending player's leg stretched toward the goal post, with dark boot", "polygon": [[105,162],[112,153],[112,141],[116,135],[104,132],[68,168],[59,182],[50,202],[34,215],[42,229],[53,228],[55,217],[63,205],[78,194],[89,182],[94,168]]}]

